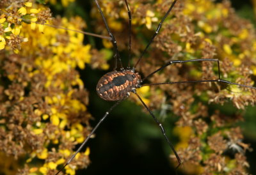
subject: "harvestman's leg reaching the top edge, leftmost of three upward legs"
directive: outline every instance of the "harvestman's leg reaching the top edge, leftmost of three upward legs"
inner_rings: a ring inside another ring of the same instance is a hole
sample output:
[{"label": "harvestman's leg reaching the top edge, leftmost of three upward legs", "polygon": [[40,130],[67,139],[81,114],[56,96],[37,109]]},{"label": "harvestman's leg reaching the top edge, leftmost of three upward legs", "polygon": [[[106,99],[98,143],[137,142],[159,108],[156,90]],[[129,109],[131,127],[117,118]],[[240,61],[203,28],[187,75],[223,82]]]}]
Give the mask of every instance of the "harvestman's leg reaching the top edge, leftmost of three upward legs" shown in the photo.
[{"label": "harvestman's leg reaching the top edge, leftmost of three upward legs", "polygon": [[115,36],[113,35],[113,33],[111,33],[111,31],[110,31],[110,29],[109,29],[109,27],[108,27],[108,23],[107,23],[107,21],[106,21],[104,15],[103,15],[103,13],[102,13],[102,10],[101,10],[101,8],[100,8],[100,5],[99,5],[99,3],[98,3],[98,0],[94,0],[94,1],[95,1],[95,3],[97,4],[97,7],[98,7],[98,9],[99,9],[99,11],[100,11],[100,15],[102,16],[102,19],[104,20],[104,24],[105,24],[105,26],[106,26],[106,28],[107,28],[107,30],[108,30],[108,34],[109,34],[109,36],[112,38],[111,42],[112,42],[112,44],[113,44],[114,52],[115,52],[115,55],[114,55],[114,57],[115,57],[115,68],[114,68],[114,71],[116,70],[116,67],[117,67],[117,60],[120,62],[121,70],[124,70],[123,65],[122,65],[122,60],[121,60],[121,57],[120,57],[120,54],[119,54],[119,51],[118,51],[118,47],[117,47],[117,45],[116,45]]}]

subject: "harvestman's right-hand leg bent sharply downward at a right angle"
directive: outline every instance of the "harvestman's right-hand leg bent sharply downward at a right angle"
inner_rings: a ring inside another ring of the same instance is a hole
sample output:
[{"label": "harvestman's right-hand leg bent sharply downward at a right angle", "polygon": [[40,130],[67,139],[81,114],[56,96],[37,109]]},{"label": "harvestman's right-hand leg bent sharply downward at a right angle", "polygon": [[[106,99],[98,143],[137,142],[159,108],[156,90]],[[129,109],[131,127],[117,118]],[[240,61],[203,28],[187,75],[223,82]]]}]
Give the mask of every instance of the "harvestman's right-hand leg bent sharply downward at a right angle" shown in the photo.
[{"label": "harvestman's right-hand leg bent sharply downward at a right angle", "polygon": [[[163,66],[161,66],[161,68],[155,70],[154,72],[150,73],[149,75],[147,75],[147,77],[145,77],[144,79],[142,79],[142,82],[147,79],[148,77],[150,77],[151,75],[159,72],[160,70],[163,70],[163,68],[165,68],[166,66],[170,66],[172,64],[175,63],[188,63],[188,62],[195,62],[195,61],[216,61],[218,62],[219,65],[219,60],[218,59],[190,59],[190,60],[173,60],[173,61],[169,61],[167,63],[165,63]],[[219,68],[220,69],[220,68]],[[219,78],[220,78],[220,72],[219,72]]]}]

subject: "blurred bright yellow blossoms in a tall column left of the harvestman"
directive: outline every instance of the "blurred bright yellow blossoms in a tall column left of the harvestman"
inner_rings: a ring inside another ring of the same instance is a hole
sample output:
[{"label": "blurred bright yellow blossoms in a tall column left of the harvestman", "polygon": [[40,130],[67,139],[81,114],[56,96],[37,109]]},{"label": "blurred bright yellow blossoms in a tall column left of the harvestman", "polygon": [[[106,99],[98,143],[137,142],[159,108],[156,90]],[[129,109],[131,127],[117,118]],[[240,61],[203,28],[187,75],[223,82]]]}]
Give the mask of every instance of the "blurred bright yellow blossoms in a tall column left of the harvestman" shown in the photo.
[{"label": "blurred bright yellow blossoms in a tall column left of the harvestman", "polygon": [[[76,19],[79,21],[81,19]],[[76,29],[76,26],[70,24],[67,19],[61,19],[61,26],[67,27],[68,29]],[[27,27],[27,28],[26,28]],[[38,73],[44,73],[46,81],[44,84],[45,88],[57,88],[62,89],[60,93],[52,93],[50,96],[45,96],[44,100],[47,105],[51,106],[51,112],[45,114],[38,109],[35,112],[42,116],[43,122],[38,125],[38,127],[33,129],[36,135],[40,135],[44,132],[45,124],[51,122],[52,125],[57,126],[56,130],[49,135],[48,140],[53,144],[60,144],[60,139],[58,139],[59,134],[65,137],[66,141],[81,143],[84,141],[83,136],[83,125],[79,123],[73,123],[70,125],[68,118],[70,114],[79,114],[86,111],[86,107],[79,100],[74,99],[73,94],[76,89],[71,87],[78,86],[79,89],[83,89],[83,81],[80,79],[79,75],[68,82],[64,80],[62,76],[68,76],[68,73],[72,73],[74,69],[78,66],[83,69],[85,63],[90,63],[90,45],[83,45],[83,34],[76,33],[74,31],[65,31],[63,29],[52,29],[52,27],[45,27],[44,33],[40,32],[29,32],[29,26],[24,24],[24,36],[29,38],[26,43],[26,47],[22,47],[22,54],[32,54],[42,52],[42,49],[51,49],[51,54],[46,56],[42,54],[36,57],[35,65],[38,67],[36,70],[32,70],[29,76],[35,77]],[[26,30],[25,30],[26,28]],[[28,47],[30,46],[30,47]],[[12,80],[17,79],[17,77],[12,76]],[[48,121],[49,120],[49,121]],[[65,130],[67,126],[70,126],[70,130]],[[84,153],[88,156],[89,149]],[[40,159],[47,159],[48,149],[44,151],[35,150],[35,155]],[[57,153],[61,153],[59,160],[56,162],[45,162],[45,164],[39,169],[33,168],[33,171],[39,171],[42,174],[47,174],[49,170],[56,170],[56,167],[60,164],[65,163],[65,160],[72,155],[74,152],[70,149],[59,149]],[[31,154],[33,155],[33,153]],[[64,157],[64,158],[63,158]],[[79,157],[77,155],[76,157]],[[67,174],[75,174],[74,167],[66,167]],[[32,171],[32,170],[31,170]]]}]

